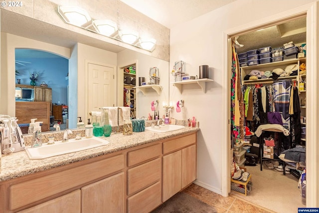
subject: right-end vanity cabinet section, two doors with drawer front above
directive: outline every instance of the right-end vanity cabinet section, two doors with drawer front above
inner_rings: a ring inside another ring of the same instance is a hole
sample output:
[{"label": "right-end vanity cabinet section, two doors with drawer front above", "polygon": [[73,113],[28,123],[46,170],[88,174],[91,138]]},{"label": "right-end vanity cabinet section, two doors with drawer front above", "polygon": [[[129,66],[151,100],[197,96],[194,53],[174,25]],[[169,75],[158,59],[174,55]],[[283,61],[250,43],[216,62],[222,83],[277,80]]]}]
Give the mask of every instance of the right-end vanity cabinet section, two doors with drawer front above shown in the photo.
[{"label": "right-end vanity cabinet section, two doors with drawer front above", "polygon": [[195,134],[163,143],[162,202],[196,179],[195,143]]}]

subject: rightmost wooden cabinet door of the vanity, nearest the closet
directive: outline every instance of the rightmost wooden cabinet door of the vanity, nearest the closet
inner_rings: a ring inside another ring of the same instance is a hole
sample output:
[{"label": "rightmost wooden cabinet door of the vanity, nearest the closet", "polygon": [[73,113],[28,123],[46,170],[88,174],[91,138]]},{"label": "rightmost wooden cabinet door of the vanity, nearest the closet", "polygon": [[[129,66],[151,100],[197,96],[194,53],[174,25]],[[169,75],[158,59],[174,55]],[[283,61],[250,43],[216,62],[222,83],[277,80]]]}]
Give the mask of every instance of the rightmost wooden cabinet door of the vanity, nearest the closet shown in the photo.
[{"label": "rightmost wooden cabinet door of the vanity, nearest the closet", "polygon": [[196,145],[181,150],[181,188],[196,179]]}]

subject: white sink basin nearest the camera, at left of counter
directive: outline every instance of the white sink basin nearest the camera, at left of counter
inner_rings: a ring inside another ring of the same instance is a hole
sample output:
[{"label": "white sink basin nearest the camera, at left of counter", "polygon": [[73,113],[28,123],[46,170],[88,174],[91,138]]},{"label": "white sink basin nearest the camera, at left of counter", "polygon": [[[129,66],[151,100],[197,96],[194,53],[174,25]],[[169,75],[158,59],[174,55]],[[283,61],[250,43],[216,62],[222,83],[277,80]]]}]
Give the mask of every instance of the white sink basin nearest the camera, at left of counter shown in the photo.
[{"label": "white sink basin nearest the camera, at left of counter", "polygon": [[26,147],[26,153],[30,159],[43,159],[52,156],[77,152],[94,147],[104,146],[110,142],[97,138],[81,138],[80,140],[71,139],[67,142],[56,141],[52,145],[47,143],[42,144],[40,147]]}]

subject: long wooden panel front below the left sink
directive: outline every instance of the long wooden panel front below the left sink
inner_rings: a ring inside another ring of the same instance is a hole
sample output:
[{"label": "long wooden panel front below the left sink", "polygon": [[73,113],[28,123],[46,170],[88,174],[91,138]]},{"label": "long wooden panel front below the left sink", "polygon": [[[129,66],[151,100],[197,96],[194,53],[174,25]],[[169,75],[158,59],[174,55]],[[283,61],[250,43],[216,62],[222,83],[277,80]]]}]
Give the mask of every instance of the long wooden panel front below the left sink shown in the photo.
[{"label": "long wooden panel front below the left sink", "polygon": [[43,173],[44,176],[13,184],[8,189],[9,209],[15,210],[71,189],[79,189],[124,169],[124,166],[124,155],[120,154],[55,173]]}]

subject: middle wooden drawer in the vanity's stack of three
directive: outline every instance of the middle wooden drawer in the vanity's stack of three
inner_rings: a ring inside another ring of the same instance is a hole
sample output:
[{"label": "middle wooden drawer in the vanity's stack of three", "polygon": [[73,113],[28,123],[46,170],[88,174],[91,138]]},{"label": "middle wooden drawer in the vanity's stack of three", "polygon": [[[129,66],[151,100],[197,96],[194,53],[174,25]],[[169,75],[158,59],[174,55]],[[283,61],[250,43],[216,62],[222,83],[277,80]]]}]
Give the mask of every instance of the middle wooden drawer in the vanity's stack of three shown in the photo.
[{"label": "middle wooden drawer in the vanity's stack of three", "polygon": [[132,195],[160,180],[161,160],[157,158],[128,170],[128,195]]}]

